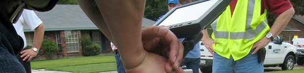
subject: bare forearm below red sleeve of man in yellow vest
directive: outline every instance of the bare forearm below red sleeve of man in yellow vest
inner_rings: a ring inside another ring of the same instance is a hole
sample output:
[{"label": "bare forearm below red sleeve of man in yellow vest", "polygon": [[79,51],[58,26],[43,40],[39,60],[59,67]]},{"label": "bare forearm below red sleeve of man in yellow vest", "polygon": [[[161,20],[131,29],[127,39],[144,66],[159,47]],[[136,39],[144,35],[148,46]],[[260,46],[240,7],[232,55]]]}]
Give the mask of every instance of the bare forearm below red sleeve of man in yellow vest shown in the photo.
[{"label": "bare forearm below red sleeve of man in yellow vest", "polygon": [[273,37],[276,37],[280,32],[283,31],[285,26],[288,24],[289,20],[293,17],[295,11],[293,7],[289,8],[282,14],[280,14],[270,29],[269,33],[272,33]]}]

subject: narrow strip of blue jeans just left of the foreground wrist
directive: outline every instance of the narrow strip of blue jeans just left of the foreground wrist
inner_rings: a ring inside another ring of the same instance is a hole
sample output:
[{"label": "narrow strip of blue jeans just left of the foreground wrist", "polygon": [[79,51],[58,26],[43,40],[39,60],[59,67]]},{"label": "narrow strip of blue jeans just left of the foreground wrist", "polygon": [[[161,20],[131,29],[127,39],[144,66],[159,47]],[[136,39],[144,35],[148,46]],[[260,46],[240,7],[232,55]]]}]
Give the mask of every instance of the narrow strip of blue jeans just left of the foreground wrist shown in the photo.
[{"label": "narrow strip of blue jeans just left of the foreground wrist", "polygon": [[126,73],[125,69],[123,68],[123,65],[122,65],[122,62],[120,60],[120,55],[118,53],[118,51],[114,51],[114,56],[115,56],[115,59],[116,59],[116,64],[117,64],[117,72],[118,73]]}]

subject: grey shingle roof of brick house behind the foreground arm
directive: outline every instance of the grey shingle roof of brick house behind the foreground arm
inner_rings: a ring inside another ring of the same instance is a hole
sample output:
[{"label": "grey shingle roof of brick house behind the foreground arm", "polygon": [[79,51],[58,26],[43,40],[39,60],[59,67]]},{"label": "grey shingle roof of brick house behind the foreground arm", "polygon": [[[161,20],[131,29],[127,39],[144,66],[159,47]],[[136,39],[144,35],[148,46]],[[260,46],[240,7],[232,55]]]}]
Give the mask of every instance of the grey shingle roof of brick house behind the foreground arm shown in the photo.
[{"label": "grey shingle roof of brick house behind the foreground arm", "polygon": [[[59,30],[97,30],[93,22],[86,17],[79,5],[57,4],[48,12],[37,12],[36,15],[42,20],[45,31]],[[143,18],[142,27],[151,26],[155,21]],[[33,32],[27,26],[25,32]]]}]

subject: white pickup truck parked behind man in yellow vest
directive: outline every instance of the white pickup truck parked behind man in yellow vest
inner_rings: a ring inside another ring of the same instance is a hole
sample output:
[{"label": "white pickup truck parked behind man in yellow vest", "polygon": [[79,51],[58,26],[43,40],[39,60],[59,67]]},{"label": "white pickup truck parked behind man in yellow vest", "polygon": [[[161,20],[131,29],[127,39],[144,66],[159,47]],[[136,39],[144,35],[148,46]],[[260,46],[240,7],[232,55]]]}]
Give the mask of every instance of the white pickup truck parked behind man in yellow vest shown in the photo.
[{"label": "white pickup truck parked behind man in yellow vest", "polygon": [[[266,56],[264,61],[264,67],[276,67],[279,66],[282,70],[292,70],[297,60],[296,46],[282,42],[282,37],[275,37],[271,41],[266,49]],[[213,55],[209,53],[206,47],[200,43],[200,64],[199,69],[202,73],[212,73]]]}]

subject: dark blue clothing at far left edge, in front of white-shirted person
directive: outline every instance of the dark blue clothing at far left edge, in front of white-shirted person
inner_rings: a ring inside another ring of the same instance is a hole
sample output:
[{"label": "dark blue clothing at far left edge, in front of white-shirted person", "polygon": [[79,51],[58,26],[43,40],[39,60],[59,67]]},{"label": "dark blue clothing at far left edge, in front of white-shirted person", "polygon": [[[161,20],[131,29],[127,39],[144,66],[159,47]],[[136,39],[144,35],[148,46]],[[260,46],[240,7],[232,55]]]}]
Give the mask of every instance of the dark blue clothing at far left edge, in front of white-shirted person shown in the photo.
[{"label": "dark blue clothing at far left edge, in front of white-shirted person", "polygon": [[20,53],[23,41],[0,3],[0,73],[26,73],[15,54]]}]

